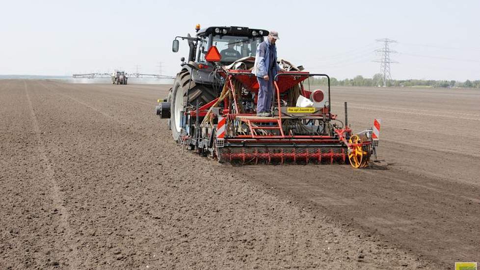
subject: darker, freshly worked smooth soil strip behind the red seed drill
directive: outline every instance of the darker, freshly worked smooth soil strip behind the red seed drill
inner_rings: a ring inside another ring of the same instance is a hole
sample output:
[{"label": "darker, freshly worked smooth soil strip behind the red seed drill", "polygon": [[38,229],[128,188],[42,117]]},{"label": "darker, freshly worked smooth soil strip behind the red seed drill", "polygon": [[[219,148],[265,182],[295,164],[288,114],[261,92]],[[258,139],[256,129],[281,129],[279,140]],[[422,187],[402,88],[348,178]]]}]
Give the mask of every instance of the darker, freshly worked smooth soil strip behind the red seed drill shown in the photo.
[{"label": "darker, freshly worked smooth soil strip behind the red seed drill", "polygon": [[475,247],[480,239],[478,187],[445,183],[388,165],[382,170],[349,169],[248,166],[242,174],[284,196],[310,202],[313,209],[339,223],[381,235],[444,267],[480,258]]}]

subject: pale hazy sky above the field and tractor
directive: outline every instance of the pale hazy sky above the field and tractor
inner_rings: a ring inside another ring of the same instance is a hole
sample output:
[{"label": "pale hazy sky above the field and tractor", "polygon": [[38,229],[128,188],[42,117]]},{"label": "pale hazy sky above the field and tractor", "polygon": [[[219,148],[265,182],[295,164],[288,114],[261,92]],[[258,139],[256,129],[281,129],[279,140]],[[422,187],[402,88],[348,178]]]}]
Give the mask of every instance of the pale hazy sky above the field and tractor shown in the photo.
[{"label": "pale hazy sky above the field and tractor", "polygon": [[115,68],[175,75],[195,24],[275,29],[279,57],[339,79],[372,77],[375,39],[392,46],[393,79],[480,79],[480,0],[0,0],[0,74]]}]

